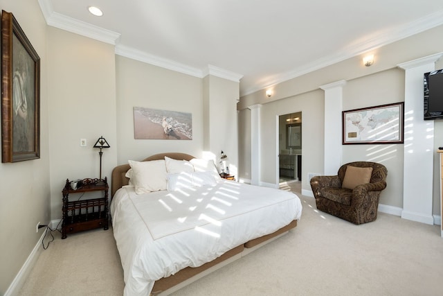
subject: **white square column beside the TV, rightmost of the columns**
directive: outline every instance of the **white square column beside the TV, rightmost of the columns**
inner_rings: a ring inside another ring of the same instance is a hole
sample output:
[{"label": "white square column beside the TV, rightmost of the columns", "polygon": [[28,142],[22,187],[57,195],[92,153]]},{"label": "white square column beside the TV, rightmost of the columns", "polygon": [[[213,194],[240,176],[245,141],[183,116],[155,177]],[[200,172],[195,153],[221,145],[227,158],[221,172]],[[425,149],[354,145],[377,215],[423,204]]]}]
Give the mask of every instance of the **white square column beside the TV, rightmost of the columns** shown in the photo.
[{"label": "white square column beside the TV, rightmost of the columns", "polygon": [[433,224],[434,121],[424,121],[423,74],[443,53],[397,65],[405,70],[404,169],[401,218]]}]

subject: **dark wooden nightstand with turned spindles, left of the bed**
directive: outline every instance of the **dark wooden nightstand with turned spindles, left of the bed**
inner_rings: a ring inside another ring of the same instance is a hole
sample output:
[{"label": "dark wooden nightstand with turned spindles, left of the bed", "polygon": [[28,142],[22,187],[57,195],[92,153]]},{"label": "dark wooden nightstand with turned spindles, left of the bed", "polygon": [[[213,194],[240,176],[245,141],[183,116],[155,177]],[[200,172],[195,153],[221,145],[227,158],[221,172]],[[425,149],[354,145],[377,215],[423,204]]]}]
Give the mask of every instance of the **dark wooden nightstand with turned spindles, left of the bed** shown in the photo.
[{"label": "dark wooden nightstand with turned spindles, left of the bed", "polygon": [[[83,179],[69,181],[63,188],[63,223],[62,239],[68,233],[103,227],[108,229],[108,183],[105,179]],[[81,200],[83,194],[103,191],[102,198]],[[81,193],[79,198],[69,201],[69,194]]]}]

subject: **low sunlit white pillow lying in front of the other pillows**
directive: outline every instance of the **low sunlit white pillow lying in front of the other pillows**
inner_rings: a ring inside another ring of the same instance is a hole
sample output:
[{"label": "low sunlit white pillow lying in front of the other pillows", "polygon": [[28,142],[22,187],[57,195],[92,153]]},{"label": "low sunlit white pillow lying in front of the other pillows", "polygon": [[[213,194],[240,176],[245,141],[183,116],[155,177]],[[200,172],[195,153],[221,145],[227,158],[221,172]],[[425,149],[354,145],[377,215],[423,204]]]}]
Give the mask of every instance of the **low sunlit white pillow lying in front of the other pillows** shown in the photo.
[{"label": "low sunlit white pillow lying in front of the other pillows", "polygon": [[215,185],[213,172],[192,172],[168,174],[168,191],[192,189],[195,186]]}]

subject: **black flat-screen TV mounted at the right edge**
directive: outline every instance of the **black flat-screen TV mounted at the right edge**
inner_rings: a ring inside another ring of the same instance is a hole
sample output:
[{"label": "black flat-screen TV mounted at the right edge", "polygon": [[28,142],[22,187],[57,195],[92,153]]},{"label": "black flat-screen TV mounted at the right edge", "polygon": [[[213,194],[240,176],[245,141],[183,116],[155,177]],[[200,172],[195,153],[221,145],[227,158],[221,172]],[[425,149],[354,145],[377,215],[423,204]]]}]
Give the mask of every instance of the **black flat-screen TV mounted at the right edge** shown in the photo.
[{"label": "black flat-screen TV mounted at the right edge", "polygon": [[443,69],[424,73],[424,120],[443,119]]}]

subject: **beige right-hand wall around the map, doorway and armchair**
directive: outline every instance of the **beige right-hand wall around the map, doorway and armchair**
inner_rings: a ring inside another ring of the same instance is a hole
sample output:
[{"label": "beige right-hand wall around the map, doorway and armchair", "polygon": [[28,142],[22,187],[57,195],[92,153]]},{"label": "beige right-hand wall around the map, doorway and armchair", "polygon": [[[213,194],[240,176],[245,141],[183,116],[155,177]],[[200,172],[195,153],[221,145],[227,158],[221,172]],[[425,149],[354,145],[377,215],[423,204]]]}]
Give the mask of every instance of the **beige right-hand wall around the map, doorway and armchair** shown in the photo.
[{"label": "beige right-hand wall around the map, doorway and armchair", "polygon": [[[274,169],[276,159],[267,156],[267,153],[275,154],[275,143],[271,143],[269,139],[275,139],[273,121],[275,121],[276,114],[302,110],[302,190],[310,191],[310,186],[307,183],[307,173],[323,173],[325,148],[323,144],[324,110],[320,107],[316,112],[305,112],[302,106],[307,104],[307,101],[312,100],[309,96],[314,96],[320,101],[320,98],[324,99],[324,92],[319,91],[320,85],[346,80],[347,83],[343,87],[343,110],[404,101],[404,71],[397,69],[397,64],[442,52],[443,39],[440,38],[442,35],[443,26],[438,26],[375,49],[375,62],[371,67],[363,67],[362,56],[357,56],[274,85],[271,98],[266,97],[265,89],[242,97],[240,103],[237,104],[239,122],[248,124],[247,119],[243,118],[247,114],[245,110],[248,106],[257,103],[264,105],[262,108],[262,182],[271,184],[276,182]],[[440,60],[436,64],[436,69],[442,68],[443,61]],[[294,98],[298,99],[295,100]],[[316,102],[315,99],[314,102]],[[422,110],[417,111],[422,114]],[[307,120],[309,119],[316,119],[312,123],[316,126],[316,129],[311,130],[311,132],[306,130],[307,125],[309,125]],[[269,125],[271,125],[271,128]],[[240,130],[250,129],[240,127]],[[440,121],[435,121],[435,150],[437,150],[437,147],[443,146],[443,137],[440,135],[442,131],[443,124]],[[309,137],[311,143],[306,141],[307,137]],[[377,153],[369,153],[369,149],[372,148]],[[388,149],[390,156],[383,158],[383,150],[381,149]],[[251,151],[251,148],[247,145],[242,146],[242,142],[240,142],[239,154],[248,155],[249,151]],[[266,158],[264,158],[264,155],[266,155]],[[403,156],[404,145],[350,145],[343,146],[341,159],[343,163],[357,159],[383,159],[383,163],[388,167],[388,187],[381,194],[381,204],[402,208]],[[438,155],[435,153],[433,214],[440,216],[440,168],[437,161]],[[242,168],[242,177],[246,178],[250,173],[250,169],[250,166],[249,171]]]}]

